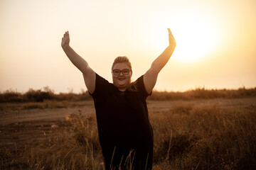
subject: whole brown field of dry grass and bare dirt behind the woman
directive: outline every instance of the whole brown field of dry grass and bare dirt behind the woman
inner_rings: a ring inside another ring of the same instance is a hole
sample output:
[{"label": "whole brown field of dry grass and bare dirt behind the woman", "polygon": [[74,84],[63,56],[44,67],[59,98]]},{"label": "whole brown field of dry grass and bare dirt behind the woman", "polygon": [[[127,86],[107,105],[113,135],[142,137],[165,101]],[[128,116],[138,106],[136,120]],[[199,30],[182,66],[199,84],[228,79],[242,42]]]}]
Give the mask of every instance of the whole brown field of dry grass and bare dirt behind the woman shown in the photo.
[{"label": "whole brown field of dry grass and bare dirt behind the woman", "polygon": [[[147,103],[153,169],[256,169],[255,97]],[[92,101],[0,108],[0,169],[104,169]]]}]

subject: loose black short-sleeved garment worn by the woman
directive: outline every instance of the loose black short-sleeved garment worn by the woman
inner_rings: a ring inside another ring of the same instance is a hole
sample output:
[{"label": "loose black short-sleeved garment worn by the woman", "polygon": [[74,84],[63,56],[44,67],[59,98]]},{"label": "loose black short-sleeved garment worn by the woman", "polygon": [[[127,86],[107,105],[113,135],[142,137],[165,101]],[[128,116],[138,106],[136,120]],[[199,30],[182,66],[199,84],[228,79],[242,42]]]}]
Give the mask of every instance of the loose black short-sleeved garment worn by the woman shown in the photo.
[{"label": "loose black short-sleeved garment worn by the woman", "polygon": [[[97,127],[106,169],[151,169],[153,130],[149,123],[143,76],[136,90],[119,91],[96,74],[95,102]],[[128,157],[129,155],[129,157]],[[147,164],[147,165],[146,165]]]}]

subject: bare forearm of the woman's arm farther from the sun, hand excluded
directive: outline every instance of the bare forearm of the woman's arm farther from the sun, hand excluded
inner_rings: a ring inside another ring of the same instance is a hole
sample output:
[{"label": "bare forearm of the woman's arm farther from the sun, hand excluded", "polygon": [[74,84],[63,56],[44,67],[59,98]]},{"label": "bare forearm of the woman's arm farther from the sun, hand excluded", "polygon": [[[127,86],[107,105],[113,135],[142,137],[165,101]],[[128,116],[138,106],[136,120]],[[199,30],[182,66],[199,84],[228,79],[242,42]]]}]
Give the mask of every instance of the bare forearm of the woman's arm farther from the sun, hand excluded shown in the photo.
[{"label": "bare forearm of the woman's arm farther from the sun, hand excluded", "polygon": [[69,45],[63,47],[65,54],[68,56],[70,61],[77,67],[82,73],[85,73],[89,68],[88,63],[80,57]]}]

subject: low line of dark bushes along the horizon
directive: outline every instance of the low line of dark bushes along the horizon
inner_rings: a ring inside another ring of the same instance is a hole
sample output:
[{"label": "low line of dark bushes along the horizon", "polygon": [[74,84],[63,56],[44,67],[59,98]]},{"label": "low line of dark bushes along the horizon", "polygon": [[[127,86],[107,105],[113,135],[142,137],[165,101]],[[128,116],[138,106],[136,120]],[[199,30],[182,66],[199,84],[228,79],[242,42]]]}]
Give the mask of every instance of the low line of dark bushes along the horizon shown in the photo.
[{"label": "low line of dark bushes along the horizon", "polygon": [[[256,87],[246,89],[245,87],[239,89],[205,89],[197,88],[184,92],[174,91],[153,91],[148,100],[193,100],[204,98],[244,98],[256,96]],[[55,94],[48,86],[43,89],[28,89],[26,93],[7,90],[0,93],[0,102],[42,102],[44,100],[56,101],[83,101],[92,100],[88,91],[81,91],[79,94],[73,93],[60,93]]]}]

